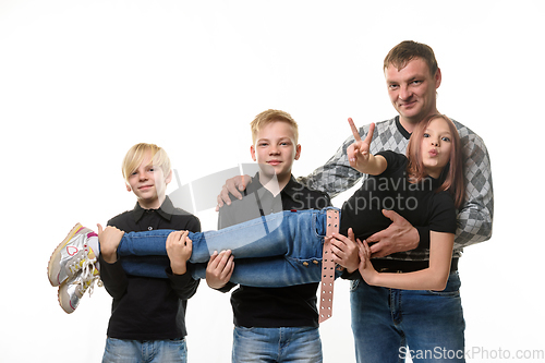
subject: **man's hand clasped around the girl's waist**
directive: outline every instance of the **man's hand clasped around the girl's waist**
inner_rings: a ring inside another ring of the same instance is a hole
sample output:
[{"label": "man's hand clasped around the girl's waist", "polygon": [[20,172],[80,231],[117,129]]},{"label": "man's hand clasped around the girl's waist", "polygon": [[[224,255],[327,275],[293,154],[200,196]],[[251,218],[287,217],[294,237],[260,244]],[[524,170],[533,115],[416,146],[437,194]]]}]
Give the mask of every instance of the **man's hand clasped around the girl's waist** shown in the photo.
[{"label": "man's hand clasped around the girl's waist", "polygon": [[392,223],[385,230],[376,232],[366,241],[376,242],[371,249],[371,257],[385,257],[396,252],[405,252],[419,246],[420,235],[403,217],[393,210],[383,209],[383,215],[391,219]]}]

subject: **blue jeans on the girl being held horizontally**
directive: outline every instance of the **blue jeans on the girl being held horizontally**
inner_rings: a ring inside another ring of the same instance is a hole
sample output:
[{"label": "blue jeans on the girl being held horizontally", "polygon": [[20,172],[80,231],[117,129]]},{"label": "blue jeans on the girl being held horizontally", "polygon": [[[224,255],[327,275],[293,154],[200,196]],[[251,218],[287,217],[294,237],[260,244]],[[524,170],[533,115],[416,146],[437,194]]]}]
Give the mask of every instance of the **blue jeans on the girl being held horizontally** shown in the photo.
[{"label": "blue jeans on the girl being held horizontally", "polygon": [[[214,251],[231,250],[233,256],[237,258],[276,256],[276,258],[268,258],[263,265],[250,262],[250,259],[238,262],[237,273],[233,274],[231,281],[237,281],[237,283],[255,281],[250,286],[259,287],[299,285],[293,279],[289,279],[288,281],[290,282],[281,282],[286,281],[286,279],[277,279],[275,277],[276,274],[270,275],[270,271],[278,271],[279,274],[284,271],[289,274],[290,264],[287,264],[283,255],[288,253],[288,245],[292,240],[291,237],[294,235],[294,227],[301,220],[311,221],[312,219],[312,214],[283,211],[231,226],[219,231],[190,232],[189,238],[193,241],[193,253],[190,262],[192,264],[198,263],[192,269],[192,275],[194,278],[205,278],[206,263],[210,254]],[[308,222],[306,226],[311,226],[311,223]],[[310,227],[301,229],[299,234],[306,235],[307,233],[305,232]],[[123,269],[134,276],[167,278],[165,269],[169,266],[169,259],[166,252],[166,241],[171,232],[171,230],[155,230],[125,233],[118,247]],[[300,235],[300,239],[304,239],[304,235]],[[316,237],[313,242],[314,245],[322,244],[319,241],[316,242]],[[298,249],[298,252],[300,251],[301,249]],[[250,270],[243,266],[251,266]],[[246,275],[246,271],[250,275]],[[293,276],[293,274],[291,275]],[[251,276],[254,276],[255,279],[250,279],[249,281]],[[241,278],[239,279],[238,277]],[[304,277],[304,274],[301,278],[302,280],[298,280],[303,281],[301,283],[304,283],[308,279]],[[312,277],[312,280],[315,282],[315,277]]]}]

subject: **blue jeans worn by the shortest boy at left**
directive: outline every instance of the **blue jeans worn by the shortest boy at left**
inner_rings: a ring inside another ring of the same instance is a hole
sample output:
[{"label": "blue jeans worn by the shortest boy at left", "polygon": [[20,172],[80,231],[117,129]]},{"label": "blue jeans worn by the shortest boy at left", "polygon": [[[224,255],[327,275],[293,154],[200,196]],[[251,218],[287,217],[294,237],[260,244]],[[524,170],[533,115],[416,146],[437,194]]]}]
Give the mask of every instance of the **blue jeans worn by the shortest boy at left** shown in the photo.
[{"label": "blue jeans worn by the shortest boy at left", "polygon": [[186,363],[185,339],[121,340],[108,338],[102,363]]}]

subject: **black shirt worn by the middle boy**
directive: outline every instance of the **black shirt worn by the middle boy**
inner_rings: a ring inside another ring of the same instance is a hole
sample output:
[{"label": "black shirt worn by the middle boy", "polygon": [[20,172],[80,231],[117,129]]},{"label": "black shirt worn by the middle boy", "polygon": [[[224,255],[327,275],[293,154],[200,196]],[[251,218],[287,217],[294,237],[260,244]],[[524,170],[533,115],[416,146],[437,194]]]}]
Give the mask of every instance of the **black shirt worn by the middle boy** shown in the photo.
[{"label": "black shirt worn by the middle boy", "polygon": [[[330,206],[327,194],[312,191],[292,177],[275,197],[256,176],[241,201],[231,198],[230,206],[219,210],[219,228],[240,223],[261,215],[290,209],[322,209]],[[237,262],[234,263],[237,268]],[[234,325],[243,327],[317,327],[316,290],[319,283],[286,288],[255,288],[240,286],[231,295]],[[233,283],[220,289],[227,292]]]}]

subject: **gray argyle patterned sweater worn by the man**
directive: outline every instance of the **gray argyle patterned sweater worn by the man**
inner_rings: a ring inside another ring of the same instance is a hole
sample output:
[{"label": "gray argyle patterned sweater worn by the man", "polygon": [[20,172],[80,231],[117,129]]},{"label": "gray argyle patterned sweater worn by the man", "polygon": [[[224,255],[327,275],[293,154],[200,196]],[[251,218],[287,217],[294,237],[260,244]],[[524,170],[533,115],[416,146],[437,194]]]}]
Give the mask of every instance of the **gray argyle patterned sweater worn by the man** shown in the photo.
[{"label": "gray argyle patterned sweater worn by the man", "polygon": [[[483,140],[472,130],[452,120],[460,134],[463,149],[463,166],[465,178],[465,203],[458,213],[458,230],[455,240],[453,257],[460,257],[463,247],[483,242],[492,237],[494,215],[494,192],[492,185],[491,159]],[[360,128],[362,138],[367,134],[368,125]],[[371,153],[393,150],[404,154],[410,134],[399,123],[399,117],[377,122],[371,144]],[[335,197],[352,187],[366,174],[350,167],[347,159],[347,148],[354,142],[350,136],[335,155],[308,177],[300,178],[299,182],[319,190]],[[391,257],[390,257],[391,258]],[[429,258],[428,250],[416,249],[407,253],[396,254],[396,258],[405,261],[422,261]]]}]

